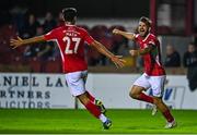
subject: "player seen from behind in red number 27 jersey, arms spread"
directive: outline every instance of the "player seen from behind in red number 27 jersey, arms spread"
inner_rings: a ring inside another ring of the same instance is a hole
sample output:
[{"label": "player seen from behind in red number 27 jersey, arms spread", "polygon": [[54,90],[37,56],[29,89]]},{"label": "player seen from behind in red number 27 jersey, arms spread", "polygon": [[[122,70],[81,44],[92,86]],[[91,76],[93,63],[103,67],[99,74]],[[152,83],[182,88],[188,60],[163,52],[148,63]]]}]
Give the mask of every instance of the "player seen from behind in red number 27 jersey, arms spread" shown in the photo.
[{"label": "player seen from behind in red number 27 jersey, arms spread", "polygon": [[84,58],[84,42],[95,48],[99,52],[111,59],[117,68],[124,66],[124,60],[109,52],[102,44],[94,40],[85,29],[76,26],[77,10],[66,8],[62,10],[65,25],[57,27],[46,35],[28,39],[11,39],[13,48],[40,41],[55,40],[58,44],[62,69],[70,93],[76,96],[82,105],[95,118],[100,119],[104,128],[109,128],[112,121],[104,114],[103,103],[85,89],[85,79],[88,76],[88,64]]}]

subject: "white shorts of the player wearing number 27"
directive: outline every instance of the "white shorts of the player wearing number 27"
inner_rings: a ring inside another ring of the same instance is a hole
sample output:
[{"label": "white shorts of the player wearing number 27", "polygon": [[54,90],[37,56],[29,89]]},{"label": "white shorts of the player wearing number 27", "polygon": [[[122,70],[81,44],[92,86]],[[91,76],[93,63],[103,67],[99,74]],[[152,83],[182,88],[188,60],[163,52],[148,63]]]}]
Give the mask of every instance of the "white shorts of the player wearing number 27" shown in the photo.
[{"label": "white shorts of the player wearing number 27", "polygon": [[72,96],[84,94],[88,71],[72,72],[65,75]]}]

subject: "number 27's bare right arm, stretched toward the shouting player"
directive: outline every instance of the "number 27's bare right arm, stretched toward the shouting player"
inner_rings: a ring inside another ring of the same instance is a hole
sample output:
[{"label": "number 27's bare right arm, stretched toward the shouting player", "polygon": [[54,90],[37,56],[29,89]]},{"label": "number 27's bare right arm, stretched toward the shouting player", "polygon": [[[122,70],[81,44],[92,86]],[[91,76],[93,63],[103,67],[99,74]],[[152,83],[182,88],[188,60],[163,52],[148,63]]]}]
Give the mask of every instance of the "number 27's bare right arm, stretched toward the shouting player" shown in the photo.
[{"label": "number 27's bare right arm, stretched toward the shouting player", "polygon": [[115,56],[108,51],[101,42],[94,40],[92,46],[102,54],[111,59],[117,68],[123,68],[125,65],[125,60],[121,59],[121,56]]}]

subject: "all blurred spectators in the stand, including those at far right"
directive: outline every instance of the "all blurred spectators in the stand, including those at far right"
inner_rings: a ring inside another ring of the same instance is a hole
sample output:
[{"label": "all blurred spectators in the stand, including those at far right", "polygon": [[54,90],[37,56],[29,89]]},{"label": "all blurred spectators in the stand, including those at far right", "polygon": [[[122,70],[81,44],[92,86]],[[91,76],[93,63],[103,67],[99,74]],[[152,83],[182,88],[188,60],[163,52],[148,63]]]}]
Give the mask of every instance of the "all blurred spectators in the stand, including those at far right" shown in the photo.
[{"label": "all blurred spectators in the stand, including those at far right", "polygon": [[[40,20],[42,19],[42,20]],[[60,58],[59,49],[55,42],[40,42],[34,46],[25,46],[22,49],[18,49],[18,52],[10,50],[9,40],[10,38],[16,37],[19,35],[21,38],[30,38],[34,36],[39,36],[50,32],[53,28],[63,25],[61,13],[58,16],[54,16],[50,12],[47,12],[44,17],[37,19],[33,13],[26,14],[12,14],[12,21],[8,25],[1,26],[1,39],[0,44],[3,49],[1,49],[1,61],[8,61],[11,57],[9,52],[14,53],[14,58],[27,59],[38,59],[42,61],[55,60]],[[121,36],[113,35],[112,30],[116,27],[121,30],[126,30],[124,26],[111,26],[96,25],[89,27],[86,25],[81,25],[85,28],[90,35],[92,35],[96,40],[101,41],[116,54],[129,56],[128,50],[130,47],[129,41]],[[85,48],[85,53],[88,56],[89,65],[108,65],[111,64],[105,57],[100,54],[94,49],[90,47]],[[3,56],[4,54],[4,56]],[[4,60],[3,58],[8,59]],[[12,57],[11,57],[12,58]],[[3,59],[3,60],[2,60]],[[142,61],[140,58],[137,59],[137,66],[142,66]],[[188,45],[188,50],[184,53],[183,58],[173,45],[166,45],[166,56],[163,57],[163,64],[166,68],[179,68],[179,66],[196,66],[197,65],[197,50],[195,44]]]}]

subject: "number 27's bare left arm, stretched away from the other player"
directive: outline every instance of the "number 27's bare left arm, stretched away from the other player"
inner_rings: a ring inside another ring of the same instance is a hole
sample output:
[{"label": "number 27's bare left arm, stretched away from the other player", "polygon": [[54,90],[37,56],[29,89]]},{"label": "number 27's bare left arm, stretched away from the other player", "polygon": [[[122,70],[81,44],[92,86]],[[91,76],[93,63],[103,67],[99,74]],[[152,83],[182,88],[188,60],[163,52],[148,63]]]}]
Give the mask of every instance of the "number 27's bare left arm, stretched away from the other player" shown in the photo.
[{"label": "number 27's bare left arm, stretched away from the other player", "polygon": [[28,39],[22,39],[18,37],[18,39],[10,39],[10,46],[14,49],[23,45],[30,45],[30,44],[40,42],[40,41],[45,41],[44,36],[33,37]]}]

